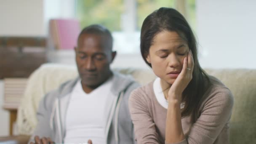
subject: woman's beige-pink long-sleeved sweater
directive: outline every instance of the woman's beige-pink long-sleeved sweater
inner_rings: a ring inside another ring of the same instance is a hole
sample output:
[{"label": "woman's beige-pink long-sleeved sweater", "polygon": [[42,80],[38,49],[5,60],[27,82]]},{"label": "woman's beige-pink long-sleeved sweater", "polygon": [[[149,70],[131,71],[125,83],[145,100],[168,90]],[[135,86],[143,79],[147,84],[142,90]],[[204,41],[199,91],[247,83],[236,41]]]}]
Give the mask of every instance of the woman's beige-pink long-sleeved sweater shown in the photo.
[{"label": "woman's beige-pink long-sleeved sweater", "polygon": [[[229,120],[233,96],[215,77],[203,96],[200,117],[195,123],[191,117],[181,119],[186,139],[176,144],[229,144]],[[167,109],[156,99],[153,82],[131,93],[129,109],[138,144],[164,144]]]}]

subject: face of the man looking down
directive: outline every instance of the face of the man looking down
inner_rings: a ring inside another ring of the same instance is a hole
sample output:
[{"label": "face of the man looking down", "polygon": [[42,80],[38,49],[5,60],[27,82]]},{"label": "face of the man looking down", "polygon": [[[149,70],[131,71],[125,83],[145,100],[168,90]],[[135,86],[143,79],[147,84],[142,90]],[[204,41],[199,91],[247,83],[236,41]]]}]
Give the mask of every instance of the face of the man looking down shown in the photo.
[{"label": "face of the man looking down", "polygon": [[112,74],[110,63],[115,52],[107,46],[107,37],[97,34],[82,34],[78,38],[76,63],[82,84],[98,87]]}]

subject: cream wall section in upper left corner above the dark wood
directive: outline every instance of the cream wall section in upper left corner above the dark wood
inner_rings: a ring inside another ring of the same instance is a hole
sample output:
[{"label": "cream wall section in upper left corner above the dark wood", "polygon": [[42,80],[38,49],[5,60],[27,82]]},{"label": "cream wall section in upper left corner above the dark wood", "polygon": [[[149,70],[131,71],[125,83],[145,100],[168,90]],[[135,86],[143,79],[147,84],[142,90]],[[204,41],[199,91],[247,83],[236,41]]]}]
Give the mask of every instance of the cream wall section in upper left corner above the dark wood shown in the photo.
[{"label": "cream wall section in upper left corner above the dark wood", "polygon": [[0,36],[42,36],[43,0],[0,0]]}]

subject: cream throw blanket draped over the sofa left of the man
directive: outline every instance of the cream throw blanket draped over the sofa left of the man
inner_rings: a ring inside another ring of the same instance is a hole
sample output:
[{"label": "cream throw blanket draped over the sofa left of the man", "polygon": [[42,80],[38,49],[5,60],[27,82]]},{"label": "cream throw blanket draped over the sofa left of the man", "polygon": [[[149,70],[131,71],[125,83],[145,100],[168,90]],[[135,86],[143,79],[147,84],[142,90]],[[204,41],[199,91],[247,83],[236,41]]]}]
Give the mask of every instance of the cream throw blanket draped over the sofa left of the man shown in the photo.
[{"label": "cream throw blanket draped over the sofa left of the man", "polygon": [[41,98],[61,83],[77,77],[77,68],[60,64],[43,64],[28,79],[17,115],[17,133],[31,135],[37,125],[36,112]]}]

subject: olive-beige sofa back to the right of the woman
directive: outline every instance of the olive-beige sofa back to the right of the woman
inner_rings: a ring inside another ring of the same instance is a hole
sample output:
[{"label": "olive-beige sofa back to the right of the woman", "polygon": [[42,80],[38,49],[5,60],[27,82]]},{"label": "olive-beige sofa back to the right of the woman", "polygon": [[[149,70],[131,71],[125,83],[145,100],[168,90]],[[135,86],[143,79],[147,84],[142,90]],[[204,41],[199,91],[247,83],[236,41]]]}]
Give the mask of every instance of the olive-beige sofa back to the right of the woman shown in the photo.
[{"label": "olive-beige sofa back to the right of the woman", "polygon": [[256,144],[256,69],[205,69],[234,95],[230,144]]}]

